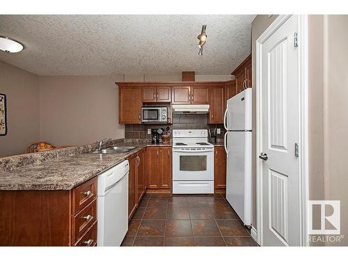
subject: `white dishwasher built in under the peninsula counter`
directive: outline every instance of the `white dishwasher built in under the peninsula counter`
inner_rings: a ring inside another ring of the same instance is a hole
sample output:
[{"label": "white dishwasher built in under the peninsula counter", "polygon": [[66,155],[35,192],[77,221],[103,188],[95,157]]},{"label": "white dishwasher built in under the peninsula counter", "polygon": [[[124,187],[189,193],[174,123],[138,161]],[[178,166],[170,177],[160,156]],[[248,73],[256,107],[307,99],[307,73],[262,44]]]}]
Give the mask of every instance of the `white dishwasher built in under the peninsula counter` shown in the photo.
[{"label": "white dishwasher built in under the peninsula counter", "polygon": [[127,160],[98,176],[98,246],[120,246],[128,230]]}]

